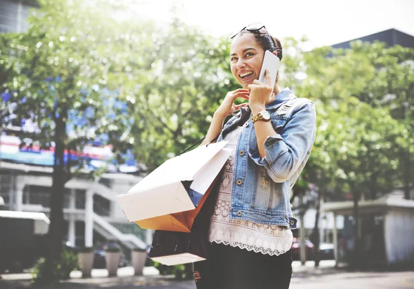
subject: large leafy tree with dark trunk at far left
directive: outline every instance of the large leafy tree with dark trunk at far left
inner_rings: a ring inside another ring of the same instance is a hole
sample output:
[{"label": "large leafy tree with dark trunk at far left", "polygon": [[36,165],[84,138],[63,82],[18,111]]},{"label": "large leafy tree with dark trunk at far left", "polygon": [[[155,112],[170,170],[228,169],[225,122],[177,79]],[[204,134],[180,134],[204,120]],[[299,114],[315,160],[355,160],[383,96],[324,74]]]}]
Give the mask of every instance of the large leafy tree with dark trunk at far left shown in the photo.
[{"label": "large leafy tree with dark trunk at far left", "polygon": [[[92,11],[98,3],[101,9]],[[122,57],[117,59],[122,28],[107,16],[110,7],[104,1],[39,4],[27,32],[1,35],[1,73],[8,75],[1,106],[7,108],[8,121],[34,123],[39,132],[30,134],[32,143],[55,148],[46,256],[50,282],[62,249],[65,183],[84,164],[81,159],[72,162],[70,152],[80,152],[103,133],[103,141],[115,145],[115,151],[125,149],[130,119],[117,83],[108,83],[126,70],[118,61]]]}]

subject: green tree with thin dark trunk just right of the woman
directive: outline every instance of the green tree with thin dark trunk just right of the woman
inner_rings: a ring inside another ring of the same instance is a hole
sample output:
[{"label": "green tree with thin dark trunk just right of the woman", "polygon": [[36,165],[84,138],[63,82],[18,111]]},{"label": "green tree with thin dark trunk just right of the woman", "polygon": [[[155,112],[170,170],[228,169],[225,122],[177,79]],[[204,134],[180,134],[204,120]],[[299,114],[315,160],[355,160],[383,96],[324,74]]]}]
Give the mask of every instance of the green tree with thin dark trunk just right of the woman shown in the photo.
[{"label": "green tree with thin dark trunk just right of the woman", "polygon": [[366,52],[359,53],[360,46],[357,43],[352,50],[336,51],[321,48],[304,54],[307,77],[298,87],[298,94],[315,101],[318,113],[317,139],[308,163],[312,181],[322,193],[331,186],[337,193],[351,192],[353,196],[355,264],[361,260],[358,201],[395,188],[400,175],[399,148],[408,148],[404,123],[395,121],[389,110],[359,100],[378,90],[373,85],[367,87],[366,83],[375,81],[377,68]]}]

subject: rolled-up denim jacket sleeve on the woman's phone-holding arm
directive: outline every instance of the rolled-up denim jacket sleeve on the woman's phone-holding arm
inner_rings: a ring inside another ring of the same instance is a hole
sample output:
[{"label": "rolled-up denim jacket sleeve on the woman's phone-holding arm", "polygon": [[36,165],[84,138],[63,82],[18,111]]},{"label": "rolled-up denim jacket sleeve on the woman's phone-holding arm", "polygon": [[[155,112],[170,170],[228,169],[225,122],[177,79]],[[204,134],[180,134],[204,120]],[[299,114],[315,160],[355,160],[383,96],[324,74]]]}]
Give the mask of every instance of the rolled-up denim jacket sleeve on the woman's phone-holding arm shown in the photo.
[{"label": "rolled-up denim jacket sleeve on the woman's phone-holding arm", "polygon": [[276,183],[289,179],[304,161],[315,141],[316,112],[311,101],[300,106],[292,115],[282,134],[269,136],[264,141],[265,157],[254,157],[259,166]]}]

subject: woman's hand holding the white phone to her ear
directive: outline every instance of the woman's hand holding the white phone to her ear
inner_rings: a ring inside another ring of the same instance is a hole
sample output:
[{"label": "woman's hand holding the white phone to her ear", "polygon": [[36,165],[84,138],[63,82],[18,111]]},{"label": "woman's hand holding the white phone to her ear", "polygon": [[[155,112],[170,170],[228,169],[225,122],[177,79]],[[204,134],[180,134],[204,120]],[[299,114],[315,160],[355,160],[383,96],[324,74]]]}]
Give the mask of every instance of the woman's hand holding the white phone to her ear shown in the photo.
[{"label": "woman's hand holding the white phone to her ear", "polygon": [[270,72],[266,69],[265,83],[262,83],[255,79],[253,84],[248,85],[250,91],[250,97],[248,99],[248,105],[252,109],[253,114],[261,112],[265,109],[266,103],[269,100],[270,94],[273,92],[272,79],[270,78]]}]

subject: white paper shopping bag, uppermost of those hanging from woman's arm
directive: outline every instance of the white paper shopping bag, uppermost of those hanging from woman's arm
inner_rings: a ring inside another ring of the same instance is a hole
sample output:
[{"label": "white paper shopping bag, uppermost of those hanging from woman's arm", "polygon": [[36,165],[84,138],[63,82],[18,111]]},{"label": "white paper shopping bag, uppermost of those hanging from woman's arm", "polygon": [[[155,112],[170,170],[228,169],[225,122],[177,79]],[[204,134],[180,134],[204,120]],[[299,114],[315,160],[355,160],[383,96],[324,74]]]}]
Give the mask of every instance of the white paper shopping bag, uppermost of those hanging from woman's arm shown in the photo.
[{"label": "white paper shopping bag, uppermost of those hanging from woman's arm", "polygon": [[199,146],[164,162],[127,194],[118,195],[128,221],[194,210],[232,150],[220,141]]}]

